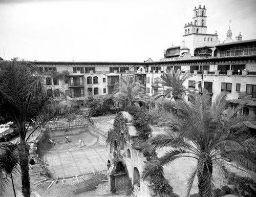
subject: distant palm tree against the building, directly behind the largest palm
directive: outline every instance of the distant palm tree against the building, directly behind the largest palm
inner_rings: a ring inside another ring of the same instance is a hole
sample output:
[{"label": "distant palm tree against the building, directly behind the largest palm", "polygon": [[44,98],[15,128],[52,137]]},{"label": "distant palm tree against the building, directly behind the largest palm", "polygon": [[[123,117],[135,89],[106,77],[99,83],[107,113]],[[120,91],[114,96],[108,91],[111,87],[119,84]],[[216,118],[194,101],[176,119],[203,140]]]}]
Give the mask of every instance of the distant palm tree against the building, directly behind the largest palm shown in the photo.
[{"label": "distant palm tree against the building, directly behind the largest palm", "polygon": [[[162,73],[160,78],[158,78],[158,83],[162,83],[163,90],[156,94],[156,100],[160,97],[173,98],[174,100],[181,99],[182,96],[186,95],[187,89],[183,83],[191,76],[182,73],[182,70],[178,69],[174,71],[173,68],[170,70],[166,69],[166,72]],[[167,89],[164,89],[164,86]]]}]

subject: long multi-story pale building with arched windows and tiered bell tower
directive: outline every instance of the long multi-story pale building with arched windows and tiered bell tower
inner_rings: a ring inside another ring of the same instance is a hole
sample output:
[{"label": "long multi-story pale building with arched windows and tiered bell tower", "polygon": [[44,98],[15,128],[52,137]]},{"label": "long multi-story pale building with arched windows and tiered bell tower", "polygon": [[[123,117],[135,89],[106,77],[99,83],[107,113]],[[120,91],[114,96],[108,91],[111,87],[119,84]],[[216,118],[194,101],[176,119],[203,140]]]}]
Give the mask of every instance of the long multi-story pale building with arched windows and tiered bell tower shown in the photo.
[{"label": "long multi-story pale building with arched windows and tiered bell tower", "polygon": [[184,27],[182,45],[168,48],[159,61],[34,63],[42,74],[47,73],[49,94],[58,97],[64,92],[81,105],[90,94],[111,94],[121,76],[135,75],[152,96],[164,89],[157,79],[170,68],[190,74],[185,87],[199,92],[206,89],[213,98],[227,91],[230,100],[256,99],[256,39],[242,41],[240,32],[236,41],[230,42],[229,26],[227,39],[220,44],[217,33],[207,34],[206,18],[205,6],[195,7],[193,21]]}]

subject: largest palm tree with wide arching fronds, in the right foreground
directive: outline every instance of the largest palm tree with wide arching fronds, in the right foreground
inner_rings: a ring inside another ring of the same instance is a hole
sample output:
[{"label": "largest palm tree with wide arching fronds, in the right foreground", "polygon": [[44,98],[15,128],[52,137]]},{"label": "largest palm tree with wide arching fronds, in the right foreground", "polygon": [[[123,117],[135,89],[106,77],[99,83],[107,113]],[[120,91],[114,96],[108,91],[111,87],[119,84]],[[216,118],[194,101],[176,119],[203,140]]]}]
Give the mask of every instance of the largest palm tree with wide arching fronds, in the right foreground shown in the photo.
[{"label": "largest palm tree with wide arching fronds, in the right foreground", "polygon": [[[187,195],[190,193],[195,176],[198,177],[199,196],[215,196],[212,181],[213,167],[217,166],[228,179],[228,173],[220,162],[220,155],[226,152],[239,165],[250,170],[256,169],[256,163],[251,157],[251,150],[256,147],[255,139],[248,136],[246,125],[254,120],[249,115],[239,115],[241,107],[235,112],[228,112],[224,117],[228,101],[226,93],[221,93],[211,104],[211,98],[206,92],[202,95],[188,95],[190,102],[177,102],[177,114],[170,113],[155,122],[160,125],[172,125],[177,132],[165,132],[150,139],[144,148],[147,151],[169,147],[165,155],[155,161],[148,161],[143,172],[143,179],[154,173],[158,168],[168,165],[182,157],[197,160],[197,168],[188,180]],[[236,130],[231,133],[230,130]],[[240,133],[239,135],[237,135]],[[216,168],[216,169],[217,169]]]}]

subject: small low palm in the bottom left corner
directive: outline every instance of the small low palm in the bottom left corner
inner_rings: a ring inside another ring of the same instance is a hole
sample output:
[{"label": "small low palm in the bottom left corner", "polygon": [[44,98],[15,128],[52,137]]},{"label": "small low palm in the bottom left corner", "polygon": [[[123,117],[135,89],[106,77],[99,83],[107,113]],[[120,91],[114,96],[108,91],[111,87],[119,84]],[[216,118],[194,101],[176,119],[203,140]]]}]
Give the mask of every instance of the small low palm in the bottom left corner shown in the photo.
[{"label": "small low palm in the bottom left corner", "polygon": [[[4,188],[5,185],[9,182],[8,177],[10,176],[11,181],[12,181],[12,187],[13,187],[13,192],[14,192],[14,196],[16,196],[15,193],[15,188],[14,188],[14,183],[13,183],[13,172],[17,173],[18,172],[18,164],[19,164],[19,159],[26,157],[25,154],[23,154],[23,151],[20,152],[20,148],[22,148],[20,146],[20,144],[13,144],[10,142],[7,143],[2,143],[0,145],[0,174],[1,177],[0,179],[2,179],[2,183],[0,184],[0,196],[3,195],[4,192]],[[3,180],[3,176],[2,174],[5,173],[7,176],[6,178]],[[5,182],[3,182],[5,181]]]}]

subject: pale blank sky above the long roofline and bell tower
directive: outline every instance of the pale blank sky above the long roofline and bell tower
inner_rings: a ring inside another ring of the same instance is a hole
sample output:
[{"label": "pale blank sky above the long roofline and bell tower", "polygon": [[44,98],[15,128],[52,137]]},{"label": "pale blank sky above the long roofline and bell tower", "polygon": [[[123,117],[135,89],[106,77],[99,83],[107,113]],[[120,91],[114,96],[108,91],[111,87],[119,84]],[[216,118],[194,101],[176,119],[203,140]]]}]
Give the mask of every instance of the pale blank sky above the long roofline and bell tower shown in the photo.
[{"label": "pale blank sky above the long roofline and bell tower", "polygon": [[221,42],[256,39],[255,0],[0,0],[0,57],[37,61],[158,61],[180,46],[195,6]]}]

